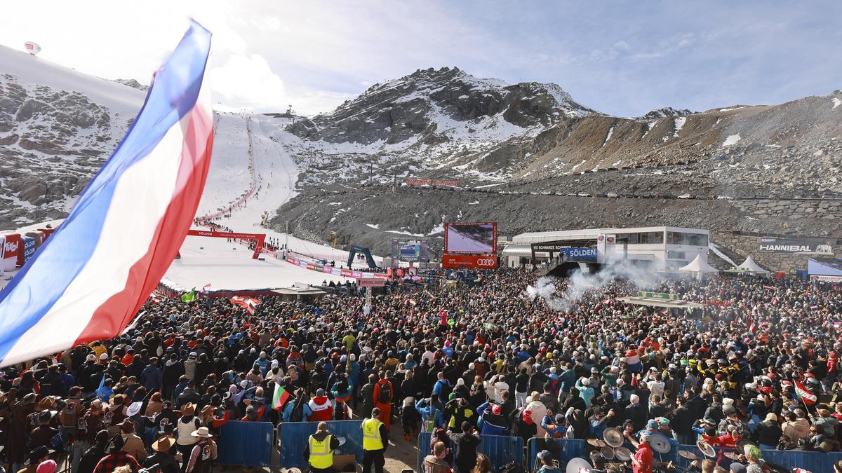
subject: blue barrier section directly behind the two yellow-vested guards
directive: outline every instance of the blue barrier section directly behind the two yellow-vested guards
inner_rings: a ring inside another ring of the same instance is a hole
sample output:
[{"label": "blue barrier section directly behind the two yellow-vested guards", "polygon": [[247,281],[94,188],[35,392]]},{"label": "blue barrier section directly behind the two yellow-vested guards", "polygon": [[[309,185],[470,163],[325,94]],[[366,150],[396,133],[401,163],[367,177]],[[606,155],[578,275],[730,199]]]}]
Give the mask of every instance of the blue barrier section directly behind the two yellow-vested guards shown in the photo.
[{"label": "blue barrier section directly behind the two yellow-vested guards", "polygon": [[[337,437],[344,437],[345,444],[339,447],[339,454],[354,454],[357,463],[363,462],[363,430],[361,420],[330,421],[328,430]],[[301,468],[307,465],[304,460],[304,446],[307,438],[316,433],[318,423],[280,423],[278,424],[278,444],[280,445],[281,468]]]}]

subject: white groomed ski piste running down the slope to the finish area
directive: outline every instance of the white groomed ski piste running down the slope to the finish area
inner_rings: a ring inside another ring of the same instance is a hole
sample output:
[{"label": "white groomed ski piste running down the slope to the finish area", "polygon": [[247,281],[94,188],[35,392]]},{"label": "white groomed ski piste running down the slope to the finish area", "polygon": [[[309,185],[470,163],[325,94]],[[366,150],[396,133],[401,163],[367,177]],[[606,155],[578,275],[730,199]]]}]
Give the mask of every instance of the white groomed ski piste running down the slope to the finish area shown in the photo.
[{"label": "white groomed ski piste running down the slope to the finish area", "polygon": [[[230,218],[221,217],[215,222],[232,231],[265,233],[267,240],[274,238],[280,244],[287,243],[294,252],[336,261],[337,266],[347,263],[348,252],[287,237],[260,226],[264,212],[269,212],[270,218],[274,217],[275,211],[296,195],[298,168],[284,148],[269,138],[286,125],[285,119],[257,114],[219,114],[210,171],[197,216],[226,208],[251,188],[247,123],[252,135],[254,178],[258,190],[244,206],[233,210]],[[221,238],[187,237],[181,247],[182,258],[173,261],[165,277],[186,289],[210,283],[210,290],[279,288],[294,283],[320,284],[325,279],[328,282],[347,280],[299,268],[275,260],[269,254],[264,255],[265,261],[254,260],[251,254],[246,247]]]}]

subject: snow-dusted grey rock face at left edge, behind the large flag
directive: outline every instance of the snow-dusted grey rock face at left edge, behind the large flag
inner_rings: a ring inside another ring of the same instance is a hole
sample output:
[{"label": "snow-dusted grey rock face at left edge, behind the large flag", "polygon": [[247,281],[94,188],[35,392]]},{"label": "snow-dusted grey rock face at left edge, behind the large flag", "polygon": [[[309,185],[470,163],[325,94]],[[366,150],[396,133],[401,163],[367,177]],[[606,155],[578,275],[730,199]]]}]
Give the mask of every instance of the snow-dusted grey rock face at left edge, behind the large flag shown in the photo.
[{"label": "snow-dusted grey rock face at left edge, behind the large flag", "polygon": [[0,230],[66,215],[126,126],[84,93],[0,75]]}]

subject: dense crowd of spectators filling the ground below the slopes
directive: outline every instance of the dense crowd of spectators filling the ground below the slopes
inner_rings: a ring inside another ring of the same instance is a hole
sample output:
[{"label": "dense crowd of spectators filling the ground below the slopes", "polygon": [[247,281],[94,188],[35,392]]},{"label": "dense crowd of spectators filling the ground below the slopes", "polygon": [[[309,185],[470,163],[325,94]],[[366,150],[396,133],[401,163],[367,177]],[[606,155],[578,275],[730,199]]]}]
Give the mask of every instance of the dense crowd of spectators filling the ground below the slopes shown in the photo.
[{"label": "dense crowd of spectators filling the ground below the slopes", "polygon": [[[223,298],[153,298],[125,337],[3,370],[0,455],[27,473],[51,473],[41,465],[62,454],[72,473],[205,473],[231,420],[319,422],[375,408],[393,442],[433,433],[430,471],[490,470],[477,455],[482,435],[602,438],[606,428],[641,456],[635,471],[651,471],[654,433],[745,447],[748,471],[763,464],[752,446],[839,450],[839,284],[648,284],[705,305],[684,311],[622,303],[639,288],[615,279],[554,311],[525,295],[535,282],[501,269],[370,306],[359,295],[267,297],[253,315]],[[556,284],[564,294],[568,280]],[[273,409],[280,387],[290,396]]]}]

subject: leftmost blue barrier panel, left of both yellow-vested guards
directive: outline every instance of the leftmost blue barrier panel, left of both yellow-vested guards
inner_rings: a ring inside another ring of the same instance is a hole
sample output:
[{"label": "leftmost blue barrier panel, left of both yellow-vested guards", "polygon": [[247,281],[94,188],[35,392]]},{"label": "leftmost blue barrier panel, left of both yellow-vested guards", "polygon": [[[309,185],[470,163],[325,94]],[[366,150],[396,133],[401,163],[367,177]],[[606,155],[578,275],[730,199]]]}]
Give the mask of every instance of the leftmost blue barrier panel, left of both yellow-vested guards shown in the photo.
[{"label": "leftmost blue barrier panel, left of both yellow-vested guards", "polygon": [[231,421],[216,440],[218,465],[271,466],[274,429],[272,423]]}]

